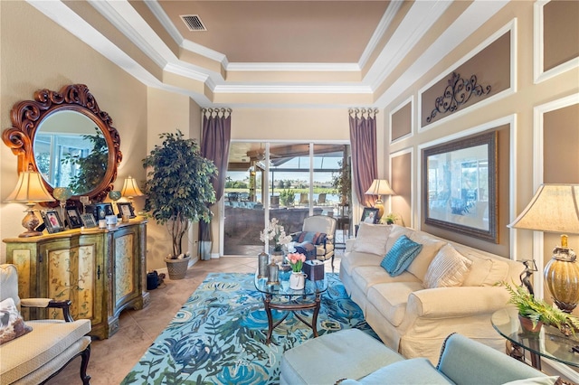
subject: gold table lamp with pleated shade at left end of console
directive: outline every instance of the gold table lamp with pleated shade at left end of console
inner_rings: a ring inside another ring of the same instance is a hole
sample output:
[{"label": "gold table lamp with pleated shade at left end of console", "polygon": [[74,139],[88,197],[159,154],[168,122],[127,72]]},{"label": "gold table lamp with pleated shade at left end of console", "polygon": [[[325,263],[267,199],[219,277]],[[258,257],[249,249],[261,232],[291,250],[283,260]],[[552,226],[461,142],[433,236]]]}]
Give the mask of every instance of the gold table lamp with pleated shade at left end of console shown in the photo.
[{"label": "gold table lamp with pleated shade at left end of console", "polygon": [[28,171],[23,171],[18,175],[18,183],[14,191],[8,195],[5,202],[8,203],[25,203],[28,206],[26,215],[22,220],[22,225],[26,231],[18,237],[36,237],[43,235],[41,231],[36,231],[36,227],[40,224],[38,217],[34,214],[33,207],[39,202],[54,202],[55,199],[44,187],[42,175],[29,168]]}]

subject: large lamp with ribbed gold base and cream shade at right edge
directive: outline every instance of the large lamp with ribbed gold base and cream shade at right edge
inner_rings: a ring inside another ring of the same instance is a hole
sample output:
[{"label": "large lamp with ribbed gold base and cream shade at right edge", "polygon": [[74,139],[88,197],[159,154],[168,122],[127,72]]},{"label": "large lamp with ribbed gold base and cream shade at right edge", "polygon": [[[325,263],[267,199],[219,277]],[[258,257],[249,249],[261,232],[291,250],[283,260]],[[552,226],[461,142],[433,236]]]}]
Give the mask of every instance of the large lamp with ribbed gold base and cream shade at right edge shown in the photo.
[{"label": "large lamp with ribbed gold base and cream shade at right edge", "polygon": [[[541,184],[527,208],[508,225],[513,229],[579,234],[579,184]],[[579,302],[579,265],[561,235],[561,246],[546,264],[546,286],[555,305],[571,313]]]}]

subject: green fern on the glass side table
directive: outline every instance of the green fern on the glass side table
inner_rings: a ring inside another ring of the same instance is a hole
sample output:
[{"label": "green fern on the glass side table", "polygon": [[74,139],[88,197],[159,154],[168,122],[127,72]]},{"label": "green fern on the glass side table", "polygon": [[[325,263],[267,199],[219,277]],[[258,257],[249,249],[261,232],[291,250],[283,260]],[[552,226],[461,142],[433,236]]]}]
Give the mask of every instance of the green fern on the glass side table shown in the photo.
[{"label": "green fern on the glass side table", "polygon": [[511,286],[507,282],[500,282],[505,286],[510,295],[509,304],[517,307],[518,315],[531,320],[533,327],[537,324],[555,326],[565,335],[575,335],[579,330],[579,318],[565,313],[553,305],[547,304],[542,299],[537,299],[523,286]]}]

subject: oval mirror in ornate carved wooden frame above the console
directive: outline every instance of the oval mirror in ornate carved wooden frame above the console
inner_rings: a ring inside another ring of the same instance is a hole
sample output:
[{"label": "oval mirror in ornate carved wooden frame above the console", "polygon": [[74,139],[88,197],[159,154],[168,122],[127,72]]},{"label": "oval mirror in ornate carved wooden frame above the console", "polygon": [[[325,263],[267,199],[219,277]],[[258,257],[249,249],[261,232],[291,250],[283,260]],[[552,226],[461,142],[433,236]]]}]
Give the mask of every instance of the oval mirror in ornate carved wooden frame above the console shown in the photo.
[{"label": "oval mirror in ornate carved wooden frame above the console", "polygon": [[71,190],[72,201],[100,202],[113,189],[122,160],[119,132],[84,84],[39,89],[16,103],[2,138],[18,157],[18,172],[40,172],[49,192]]}]

